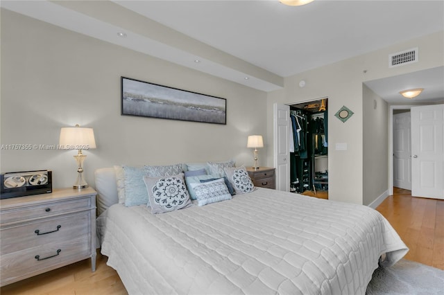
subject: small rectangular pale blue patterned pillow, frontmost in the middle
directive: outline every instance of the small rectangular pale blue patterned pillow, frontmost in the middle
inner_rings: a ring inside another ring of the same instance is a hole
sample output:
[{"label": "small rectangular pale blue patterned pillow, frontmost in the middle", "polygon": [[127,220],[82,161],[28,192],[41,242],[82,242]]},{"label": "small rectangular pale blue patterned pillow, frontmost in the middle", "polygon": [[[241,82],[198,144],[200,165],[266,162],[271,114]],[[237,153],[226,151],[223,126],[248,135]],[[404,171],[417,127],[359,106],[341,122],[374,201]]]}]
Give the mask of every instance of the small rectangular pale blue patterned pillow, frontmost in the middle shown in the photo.
[{"label": "small rectangular pale blue patterned pillow, frontmost in the middle", "polygon": [[190,184],[196,193],[196,199],[198,206],[204,206],[214,202],[221,202],[226,199],[231,199],[230,192],[228,191],[225,181],[223,179],[216,179],[208,181],[203,184]]}]

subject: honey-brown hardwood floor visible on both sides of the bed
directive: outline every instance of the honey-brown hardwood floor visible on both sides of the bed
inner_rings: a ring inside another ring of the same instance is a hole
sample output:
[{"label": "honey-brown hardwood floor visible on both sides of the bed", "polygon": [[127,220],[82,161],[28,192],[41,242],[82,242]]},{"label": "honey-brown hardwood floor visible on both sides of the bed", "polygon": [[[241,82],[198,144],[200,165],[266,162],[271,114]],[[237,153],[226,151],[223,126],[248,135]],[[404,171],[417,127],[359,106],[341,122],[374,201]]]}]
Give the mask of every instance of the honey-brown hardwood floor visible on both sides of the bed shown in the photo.
[{"label": "honey-brown hardwood floor visible on both sides of the bed", "polygon": [[[404,258],[444,269],[444,200],[411,197],[409,190],[395,188],[377,211],[392,224],[410,251]],[[1,287],[1,295],[127,294],[117,272],[97,256],[91,272],[83,260],[46,274]]]}]

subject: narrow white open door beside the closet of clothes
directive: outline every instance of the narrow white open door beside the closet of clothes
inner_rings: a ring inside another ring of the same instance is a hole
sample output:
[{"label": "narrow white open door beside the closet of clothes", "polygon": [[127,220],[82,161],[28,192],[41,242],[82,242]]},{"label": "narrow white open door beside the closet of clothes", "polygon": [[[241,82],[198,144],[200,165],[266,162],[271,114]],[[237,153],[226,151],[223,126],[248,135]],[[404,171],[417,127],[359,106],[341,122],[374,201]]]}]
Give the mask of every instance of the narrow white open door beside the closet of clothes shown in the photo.
[{"label": "narrow white open door beside the closet of clothes", "polygon": [[276,189],[290,190],[290,107],[288,105],[273,105],[274,126],[274,164],[276,168]]}]

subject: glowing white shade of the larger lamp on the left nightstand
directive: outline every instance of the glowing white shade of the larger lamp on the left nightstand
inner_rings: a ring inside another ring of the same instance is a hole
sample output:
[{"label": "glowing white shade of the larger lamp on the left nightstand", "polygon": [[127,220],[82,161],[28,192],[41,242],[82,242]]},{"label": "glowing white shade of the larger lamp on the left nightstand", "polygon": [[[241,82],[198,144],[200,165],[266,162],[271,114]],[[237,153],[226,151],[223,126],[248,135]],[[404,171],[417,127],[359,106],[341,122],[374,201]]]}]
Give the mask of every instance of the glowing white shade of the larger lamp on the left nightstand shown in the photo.
[{"label": "glowing white shade of the larger lamp on the left nightstand", "polygon": [[84,127],[62,127],[60,129],[60,145],[69,150],[96,148],[94,130]]}]

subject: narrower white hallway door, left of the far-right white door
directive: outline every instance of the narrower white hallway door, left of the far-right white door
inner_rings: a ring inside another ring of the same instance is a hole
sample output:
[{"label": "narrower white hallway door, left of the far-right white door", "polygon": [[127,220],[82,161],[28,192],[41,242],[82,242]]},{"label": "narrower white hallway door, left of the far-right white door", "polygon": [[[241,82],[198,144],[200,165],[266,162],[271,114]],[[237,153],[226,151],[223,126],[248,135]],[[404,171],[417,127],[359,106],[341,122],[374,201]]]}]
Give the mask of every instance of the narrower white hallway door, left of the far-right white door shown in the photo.
[{"label": "narrower white hallway door, left of the far-right white door", "polygon": [[411,190],[410,111],[393,115],[393,186]]}]

